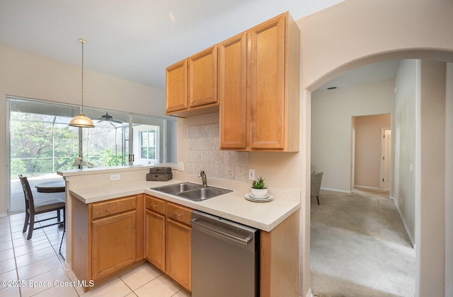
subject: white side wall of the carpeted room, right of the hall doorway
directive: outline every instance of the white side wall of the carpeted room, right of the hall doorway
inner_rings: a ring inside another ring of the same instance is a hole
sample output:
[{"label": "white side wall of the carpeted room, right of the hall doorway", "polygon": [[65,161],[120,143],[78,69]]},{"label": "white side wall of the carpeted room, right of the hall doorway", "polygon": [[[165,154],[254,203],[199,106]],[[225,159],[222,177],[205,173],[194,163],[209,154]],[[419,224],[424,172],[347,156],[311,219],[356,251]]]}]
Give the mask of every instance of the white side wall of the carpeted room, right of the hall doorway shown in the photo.
[{"label": "white side wall of the carpeted room, right of the hall doorway", "polygon": [[394,192],[393,197],[415,244],[415,131],[417,61],[401,60],[396,75],[396,103],[394,115]]}]

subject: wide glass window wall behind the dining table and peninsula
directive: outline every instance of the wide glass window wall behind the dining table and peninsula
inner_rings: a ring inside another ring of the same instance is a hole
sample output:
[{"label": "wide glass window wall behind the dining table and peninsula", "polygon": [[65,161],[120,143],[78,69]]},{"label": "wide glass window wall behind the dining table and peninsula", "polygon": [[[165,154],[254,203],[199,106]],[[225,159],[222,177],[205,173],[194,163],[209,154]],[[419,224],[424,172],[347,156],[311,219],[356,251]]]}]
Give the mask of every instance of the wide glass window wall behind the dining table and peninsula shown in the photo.
[{"label": "wide glass window wall behind the dining table and peninsula", "polygon": [[8,97],[6,107],[8,213],[25,207],[19,174],[29,177],[31,185],[61,179],[57,170],[76,169],[74,161],[79,155],[96,168],[176,163],[177,125],[173,119],[84,107],[95,128],[82,129],[68,126],[80,113],[74,105]]}]

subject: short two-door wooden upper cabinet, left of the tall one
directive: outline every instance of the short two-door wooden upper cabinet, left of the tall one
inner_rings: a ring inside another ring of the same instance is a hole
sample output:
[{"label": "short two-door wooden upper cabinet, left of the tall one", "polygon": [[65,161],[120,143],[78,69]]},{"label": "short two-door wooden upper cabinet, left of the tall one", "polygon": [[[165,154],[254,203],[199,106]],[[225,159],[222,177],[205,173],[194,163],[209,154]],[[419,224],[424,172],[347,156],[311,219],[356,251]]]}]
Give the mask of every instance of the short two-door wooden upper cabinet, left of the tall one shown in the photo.
[{"label": "short two-door wooden upper cabinet, left of the tall one", "polygon": [[218,112],[217,46],[166,69],[166,115],[188,117]]}]

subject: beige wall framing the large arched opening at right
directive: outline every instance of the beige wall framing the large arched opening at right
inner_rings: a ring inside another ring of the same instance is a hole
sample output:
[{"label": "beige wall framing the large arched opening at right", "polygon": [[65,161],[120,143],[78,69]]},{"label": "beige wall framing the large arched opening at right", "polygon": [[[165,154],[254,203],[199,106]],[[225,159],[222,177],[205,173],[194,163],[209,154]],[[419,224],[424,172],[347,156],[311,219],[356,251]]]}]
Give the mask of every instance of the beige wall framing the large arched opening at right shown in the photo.
[{"label": "beige wall framing the large arched opening at right", "polygon": [[[437,5],[441,4],[442,5]],[[430,59],[441,62],[453,62],[453,39],[447,28],[453,27],[449,11],[453,3],[445,1],[395,1],[384,0],[348,0],[336,6],[297,21],[302,30],[302,98],[301,110],[307,114],[311,105],[311,91],[345,71],[357,66],[382,62],[386,59]],[[430,17],[426,17],[430,16]],[[433,20],[435,18],[436,21]],[[447,76],[451,81],[452,66],[447,65]],[[429,69],[427,69],[429,70]],[[429,71],[428,71],[429,72]],[[425,72],[425,74],[428,74]],[[420,74],[423,76],[423,74]],[[420,77],[421,79],[421,77]],[[451,105],[451,87],[447,86],[447,96],[443,97],[442,106],[430,109],[430,100],[420,100],[420,117],[417,127],[417,168],[416,179],[418,199],[417,230],[417,280],[416,296],[443,296],[453,293],[453,286],[445,279],[453,276],[452,257],[447,252],[453,248],[452,215],[445,215],[445,208],[451,209],[453,202],[452,187],[445,180],[452,180],[453,165],[451,124],[453,110]],[[435,91],[435,90],[434,90]],[[445,92],[445,88],[444,88]],[[420,94],[423,95],[423,94]],[[426,94],[425,94],[426,95]],[[436,94],[438,96],[439,94]],[[441,96],[442,97],[442,96]],[[447,100],[445,100],[447,98]],[[447,112],[445,112],[447,110]],[[309,113],[309,112],[308,112]],[[439,122],[440,115],[444,115]],[[302,122],[301,148],[304,152],[304,173],[310,172],[310,118],[307,115]],[[434,125],[434,126],[432,126]],[[437,125],[437,126],[436,126]],[[432,129],[441,129],[445,138],[431,135]],[[422,134],[423,132],[423,134]],[[428,138],[426,138],[428,136]],[[430,151],[429,142],[442,148],[441,151]],[[424,164],[423,153],[430,151],[435,163],[446,166],[431,168]],[[447,151],[447,153],[445,153]],[[439,174],[439,171],[446,174]],[[307,178],[306,178],[307,179]],[[430,185],[431,183],[431,185]],[[430,192],[434,191],[434,192]],[[434,194],[435,193],[435,194]],[[427,203],[429,202],[429,203]],[[305,210],[302,218],[302,252],[301,252],[301,286],[302,295],[309,291],[309,226],[310,199],[308,191],[302,199]],[[446,224],[446,222],[448,222]],[[430,235],[434,235],[430,238]],[[308,245],[307,245],[308,243]],[[305,252],[308,250],[308,252]],[[308,255],[308,257],[307,257]],[[422,269],[423,267],[423,269]]]}]

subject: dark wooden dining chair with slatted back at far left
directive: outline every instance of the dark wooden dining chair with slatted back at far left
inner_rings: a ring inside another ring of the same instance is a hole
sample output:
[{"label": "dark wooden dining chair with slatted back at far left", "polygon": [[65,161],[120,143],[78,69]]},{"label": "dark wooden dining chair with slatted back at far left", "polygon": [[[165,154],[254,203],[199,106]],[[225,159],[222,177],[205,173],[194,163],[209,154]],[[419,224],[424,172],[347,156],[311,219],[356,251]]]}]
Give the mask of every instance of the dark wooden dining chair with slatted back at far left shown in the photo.
[{"label": "dark wooden dining chair with slatted back at far left", "polygon": [[[64,230],[66,230],[66,223],[64,218],[64,211],[66,209],[66,205],[64,201],[60,199],[48,199],[45,201],[35,202],[33,199],[33,194],[30,189],[30,184],[28,183],[27,177],[23,177],[19,175],[19,179],[21,180],[21,185],[23,189],[23,194],[25,196],[25,223],[23,224],[22,232],[25,233],[27,231],[28,226],[28,235],[27,239],[30,239],[33,235],[33,230],[45,228],[48,226],[54,226],[57,224],[63,224]],[[35,221],[35,216],[37,214],[44,214],[50,211],[57,211],[57,216],[54,216],[49,219],[42,219],[39,221]],[[60,211],[63,211],[63,221],[60,220]],[[52,219],[57,219],[57,223],[50,223],[45,226],[35,227],[35,223],[40,223],[42,221],[48,221]]]}]

